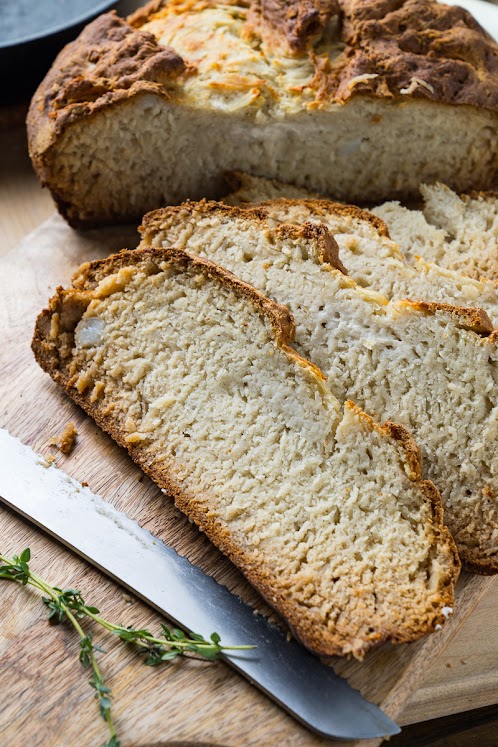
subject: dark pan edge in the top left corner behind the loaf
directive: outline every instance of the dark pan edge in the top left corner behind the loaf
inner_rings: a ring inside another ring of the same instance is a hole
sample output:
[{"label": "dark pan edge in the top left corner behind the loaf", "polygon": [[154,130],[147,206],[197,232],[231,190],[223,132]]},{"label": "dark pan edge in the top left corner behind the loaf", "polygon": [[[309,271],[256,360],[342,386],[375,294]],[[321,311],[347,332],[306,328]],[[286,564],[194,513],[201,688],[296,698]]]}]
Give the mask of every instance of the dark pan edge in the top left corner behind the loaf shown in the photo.
[{"label": "dark pan edge in the top left corner behind the loaf", "polygon": [[[44,12],[43,21],[37,8],[47,8],[47,0],[2,0],[0,3],[0,69],[3,72],[0,104],[23,103],[33,95],[54,57],[72,41],[89,21],[118,5],[111,0],[51,0],[53,12]],[[12,16],[2,6],[14,4],[22,9],[22,21],[12,33]],[[52,11],[52,7],[50,8]],[[8,35],[7,35],[8,33]]]}]

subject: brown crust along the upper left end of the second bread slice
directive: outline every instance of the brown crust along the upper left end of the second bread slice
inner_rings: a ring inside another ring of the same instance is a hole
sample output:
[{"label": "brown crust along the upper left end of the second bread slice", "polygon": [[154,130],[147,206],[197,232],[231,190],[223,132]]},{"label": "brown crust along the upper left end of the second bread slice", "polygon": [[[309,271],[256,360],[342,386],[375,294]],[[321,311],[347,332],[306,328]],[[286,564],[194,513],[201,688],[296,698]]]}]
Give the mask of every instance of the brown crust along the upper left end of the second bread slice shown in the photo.
[{"label": "brown crust along the upper left end of the second bread slice", "polygon": [[[286,202],[292,201],[289,200]],[[298,203],[300,201],[296,202]],[[147,213],[138,229],[142,236],[142,240],[146,244],[152,244],[151,236],[154,236],[157,231],[161,230],[161,223],[163,223],[168,216],[181,214],[185,210],[190,213],[195,211],[197,215],[202,216],[217,215],[221,218],[226,218],[227,220],[237,220],[237,218],[242,218],[244,220],[253,221],[257,223],[260,228],[268,230],[268,211],[265,209],[264,205],[258,205],[257,207],[235,207],[225,205],[222,202],[200,200],[199,202],[184,202],[182,205],[159,208],[159,210],[153,210],[152,212]],[[351,211],[355,210],[356,208],[351,208]],[[272,232],[275,236],[281,236],[282,238],[295,240],[304,238],[315,241],[318,248],[319,261],[331,265],[344,275],[348,274],[347,269],[339,258],[339,245],[326,226],[316,223],[303,223],[301,226],[282,223],[273,229]]]}]

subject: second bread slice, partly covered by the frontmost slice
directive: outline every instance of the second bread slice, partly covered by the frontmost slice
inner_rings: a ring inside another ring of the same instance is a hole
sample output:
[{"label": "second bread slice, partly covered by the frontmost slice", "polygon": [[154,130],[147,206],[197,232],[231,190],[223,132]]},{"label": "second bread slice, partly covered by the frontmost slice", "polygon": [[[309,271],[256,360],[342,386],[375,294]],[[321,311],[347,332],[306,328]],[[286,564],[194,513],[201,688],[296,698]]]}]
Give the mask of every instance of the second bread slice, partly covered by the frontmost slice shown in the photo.
[{"label": "second bread slice, partly covered by the frontmost slice", "polygon": [[498,332],[484,312],[388,303],[332,266],[326,228],[272,229],[264,209],[186,203],[151,213],[141,230],[144,246],[195,252],[285,303],[297,350],[337,398],[413,432],[468,567],[498,571]]}]

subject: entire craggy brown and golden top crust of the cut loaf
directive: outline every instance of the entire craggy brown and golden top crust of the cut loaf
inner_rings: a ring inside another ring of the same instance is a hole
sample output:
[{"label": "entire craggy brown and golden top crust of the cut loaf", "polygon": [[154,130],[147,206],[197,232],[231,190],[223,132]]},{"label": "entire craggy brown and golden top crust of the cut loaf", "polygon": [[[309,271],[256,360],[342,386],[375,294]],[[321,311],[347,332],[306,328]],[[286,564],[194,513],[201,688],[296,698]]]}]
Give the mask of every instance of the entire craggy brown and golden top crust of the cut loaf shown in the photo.
[{"label": "entire craggy brown and golden top crust of the cut loaf", "polygon": [[33,99],[32,150],[143,91],[265,115],[360,94],[496,111],[498,45],[433,0],[153,0],[127,21],[97,18],[63,50]]}]

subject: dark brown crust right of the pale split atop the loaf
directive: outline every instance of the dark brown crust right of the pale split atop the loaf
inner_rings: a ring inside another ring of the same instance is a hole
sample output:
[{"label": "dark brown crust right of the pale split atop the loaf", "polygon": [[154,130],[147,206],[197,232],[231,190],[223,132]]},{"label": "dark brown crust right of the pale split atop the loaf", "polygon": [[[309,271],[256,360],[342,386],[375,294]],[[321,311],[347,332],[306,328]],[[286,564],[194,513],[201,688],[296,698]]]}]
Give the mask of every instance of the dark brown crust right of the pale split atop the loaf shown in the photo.
[{"label": "dark brown crust right of the pale split atop the loaf", "polygon": [[[498,109],[498,47],[460,7],[433,0],[254,0],[248,26],[272,47],[308,52],[318,101],[368,94]],[[336,59],[314,52],[327,32],[344,46]]]}]

